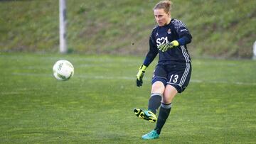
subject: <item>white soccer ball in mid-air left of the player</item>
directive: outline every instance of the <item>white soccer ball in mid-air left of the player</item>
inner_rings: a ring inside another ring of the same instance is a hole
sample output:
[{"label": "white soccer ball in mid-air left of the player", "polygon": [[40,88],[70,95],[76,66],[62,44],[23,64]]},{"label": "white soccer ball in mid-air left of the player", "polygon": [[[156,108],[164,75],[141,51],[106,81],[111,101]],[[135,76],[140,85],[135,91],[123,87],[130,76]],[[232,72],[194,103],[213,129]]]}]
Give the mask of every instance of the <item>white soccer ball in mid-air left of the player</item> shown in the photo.
[{"label": "white soccer ball in mid-air left of the player", "polygon": [[68,60],[58,60],[53,65],[53,75],[58,80],[68,80],[74,75],[74,67]]}]

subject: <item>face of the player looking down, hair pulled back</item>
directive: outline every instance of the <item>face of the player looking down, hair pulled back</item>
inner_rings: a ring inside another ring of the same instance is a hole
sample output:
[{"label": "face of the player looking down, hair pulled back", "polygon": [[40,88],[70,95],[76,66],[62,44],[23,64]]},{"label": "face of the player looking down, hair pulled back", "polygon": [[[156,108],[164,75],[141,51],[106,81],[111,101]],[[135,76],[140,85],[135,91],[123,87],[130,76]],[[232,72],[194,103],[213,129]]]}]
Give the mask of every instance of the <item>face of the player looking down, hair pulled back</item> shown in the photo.
[{"label": "face of the player looking down, hair pulled back", "polygon": [[154,16],[159,26],[165,26],[170,22],[170,13],[166,13],[164,9],[154,9]]}]

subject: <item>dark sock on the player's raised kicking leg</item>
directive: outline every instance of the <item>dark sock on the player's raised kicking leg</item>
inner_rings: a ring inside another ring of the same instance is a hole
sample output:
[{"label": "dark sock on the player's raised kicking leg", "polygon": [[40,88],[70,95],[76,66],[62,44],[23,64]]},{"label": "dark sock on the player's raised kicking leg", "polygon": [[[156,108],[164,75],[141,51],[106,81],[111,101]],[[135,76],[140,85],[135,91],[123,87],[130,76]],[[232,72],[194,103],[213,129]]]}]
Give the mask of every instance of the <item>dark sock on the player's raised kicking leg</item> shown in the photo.
[{"label": "dark sock on the player's raised kicking leg", "polygon": [[149,106],[148,109],[156,114],[156,110],[159,109],[161,104],[161,94],[153,93],[149,98]]}]

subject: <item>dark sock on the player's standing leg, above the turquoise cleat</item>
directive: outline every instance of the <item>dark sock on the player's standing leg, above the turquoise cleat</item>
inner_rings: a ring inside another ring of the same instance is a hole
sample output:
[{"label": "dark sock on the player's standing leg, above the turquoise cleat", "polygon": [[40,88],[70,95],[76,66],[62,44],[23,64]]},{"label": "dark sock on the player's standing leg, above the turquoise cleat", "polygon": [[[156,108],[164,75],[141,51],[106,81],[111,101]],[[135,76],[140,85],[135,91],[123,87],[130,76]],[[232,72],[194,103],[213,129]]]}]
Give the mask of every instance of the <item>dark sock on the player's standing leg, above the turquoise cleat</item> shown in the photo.
[{"label": "dark sock on the player's standing leg, above the turquoise cleat", "polygon": [[154,129],[157,134],[161,133],[161,128],[163,128],[164,123],[166,122],[166,119],[169,116],[169,113],[171,112],[171,103],[170,104],[161,104],[159,116],[156,121],[156,128]]}]

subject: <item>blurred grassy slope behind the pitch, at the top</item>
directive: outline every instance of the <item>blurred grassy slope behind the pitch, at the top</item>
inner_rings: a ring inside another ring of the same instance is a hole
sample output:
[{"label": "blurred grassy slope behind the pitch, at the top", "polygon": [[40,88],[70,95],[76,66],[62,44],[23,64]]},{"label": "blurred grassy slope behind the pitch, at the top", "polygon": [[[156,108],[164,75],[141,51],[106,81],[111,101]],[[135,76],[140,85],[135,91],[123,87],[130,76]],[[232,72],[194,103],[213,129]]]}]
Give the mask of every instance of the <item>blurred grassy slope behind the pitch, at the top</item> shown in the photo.
[{"label": "blurred grassy slope behind the pitch, at the top", "polygon": [[[158,0],[67,0],[68,51],[145,55]],[[256,1],[173,0],[193,35],[192,57],[252,57]],[[59,1],[1,0],[0,52],[58,52]]]}]

